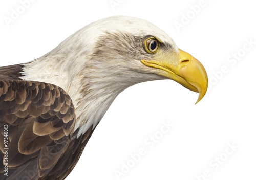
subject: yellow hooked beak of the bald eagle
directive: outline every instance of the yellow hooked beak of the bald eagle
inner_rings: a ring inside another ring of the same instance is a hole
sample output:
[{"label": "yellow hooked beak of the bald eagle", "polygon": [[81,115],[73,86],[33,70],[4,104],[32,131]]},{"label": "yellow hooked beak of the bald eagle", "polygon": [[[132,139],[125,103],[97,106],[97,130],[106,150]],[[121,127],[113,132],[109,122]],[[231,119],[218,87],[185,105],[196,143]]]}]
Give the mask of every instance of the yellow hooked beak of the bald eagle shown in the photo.
[{"label": "yellow hooked beak of the bald eagle", "polygon": [[204,66],[193,56],[179,49],[175,57],[160,55],[156,60],[141,60],[147,66],[158,68],[157,74],[173,79],[191,91],[199,93],[196,104],[204,97],[208,77]]}]

